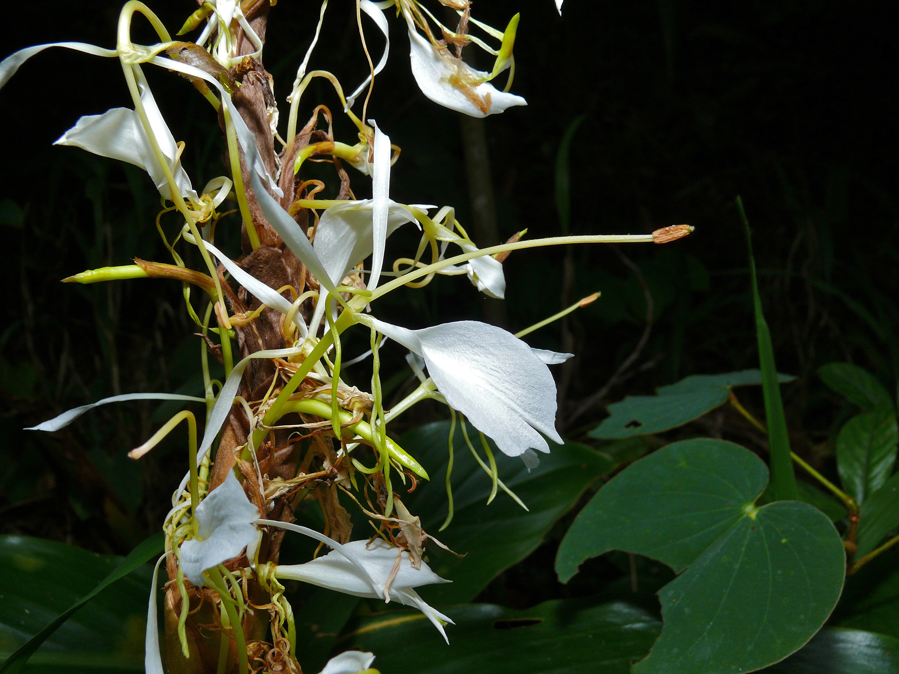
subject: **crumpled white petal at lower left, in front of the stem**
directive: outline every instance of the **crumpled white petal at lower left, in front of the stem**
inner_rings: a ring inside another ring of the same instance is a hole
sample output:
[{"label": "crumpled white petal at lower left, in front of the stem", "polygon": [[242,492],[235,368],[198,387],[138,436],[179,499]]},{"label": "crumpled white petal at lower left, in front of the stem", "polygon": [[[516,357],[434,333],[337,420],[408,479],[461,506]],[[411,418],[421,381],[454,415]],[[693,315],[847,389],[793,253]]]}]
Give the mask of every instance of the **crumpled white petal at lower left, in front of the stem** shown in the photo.
[{"label": "crumpled white petal at lower left, in front of the stem", "polygon": [[240,554],[255,543],[260,530],[254,526],[259,510],[246,498],[234,471],[209,492],[194,513],[200,527],[197,537],[181,545],[181,568],[194,585],[203,584],[203,572]]}]

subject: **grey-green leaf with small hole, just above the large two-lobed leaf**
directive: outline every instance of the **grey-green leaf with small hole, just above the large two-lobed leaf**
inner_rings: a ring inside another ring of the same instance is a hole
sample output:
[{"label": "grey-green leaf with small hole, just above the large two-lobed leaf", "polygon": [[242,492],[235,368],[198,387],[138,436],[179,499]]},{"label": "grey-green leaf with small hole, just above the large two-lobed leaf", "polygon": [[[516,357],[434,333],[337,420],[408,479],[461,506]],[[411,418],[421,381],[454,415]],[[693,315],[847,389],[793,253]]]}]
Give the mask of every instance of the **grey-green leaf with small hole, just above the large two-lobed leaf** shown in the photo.
[{"label": "grey-green leaf with small hole, just above the large two-lobed leaf", "polygon": [[[779,381],[794,377],[778,375]],[[592,438],[619,439],[671,430],[725,404],[732,386],[761,384],[761,371],[746,369],[720,375],[691,375],[656,389],[658,395],[628,395],[609,405],[610,417],[590,431]]]}]

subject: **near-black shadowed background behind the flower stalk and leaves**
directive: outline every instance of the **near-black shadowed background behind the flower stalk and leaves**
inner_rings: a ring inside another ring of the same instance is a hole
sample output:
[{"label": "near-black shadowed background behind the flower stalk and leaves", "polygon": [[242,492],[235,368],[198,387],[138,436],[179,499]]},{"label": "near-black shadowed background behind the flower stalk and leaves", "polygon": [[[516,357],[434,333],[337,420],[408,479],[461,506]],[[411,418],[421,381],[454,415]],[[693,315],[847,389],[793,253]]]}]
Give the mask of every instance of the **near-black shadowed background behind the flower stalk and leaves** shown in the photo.
[{"label": "near-black shadowed background behind the flower stalk and leaves", "polygon": [[[174,33],[194,6],[170,0],[153,9]],[[332,70],[347,91],[366,73],[351,8],[349,0],[332,0],[310,63],[310,69]],[[627,260],[606,246],[574,250],[571,299],[594,290],[602,297],[567,324],[577,359],[559,415],[566,435],[583,439],[604,416],[604,405],[624,395],[651,394],[654,386],[690,374],[757,367],[745,240],[734,208],[740,194],[778,366],[798,377],[784,387],[793,446],[833,474],[832,428],[841,407],[816,368],[850,360],[891,391],[899,373],[895,4],[567,0],[559,18],[551,0],[493,0],[473,10],[500,29],[521,12],[512,91],[529,104],[485,122],[501,238],[525,227],[529,237],[560,233],[556,153],[579,115],[570,159],[573,233],[696,227],[674,244],[624,247]],[[99,0],[19,5],[6,14],[4,52],[53,40],[112,47],[118,12],[118,4]],[[275,77],[282,133],[284,96],[317,13],[318,4],[307,0],[280,0],[271,11],[264,62]],[[136,39],[150,41],[146,24],[135,25]],[[377,60],[381,42],[374,33],[369,44]],[[391,196],[455,206],[467,225],[458,115],[427,101],[415,86],[402,21],[391,20],[391,36],[390,61],[369,108],[369,117],[403,148]],[[478,63],[488,67],[484,59]],[[183,164],[194,187],[226,173],[209,105],[179,77],[155,67],[145,72],[174,136],[187,141]],[[324,102],[338,117],[337,139],[353,144],[355,129],[321,82],[308,90],[300,123],[313,102]],[[107,395],[200,391],[200,344],[178,284],[58,282],[135,256],[170,262],[156,234],[158,195],[146,174],[51,145],[79,116],[121,105],[130,101],[116,60],[63,49],[33,58],[0,91],[7,288],[0,305],[0,528],[106,553],[126,552],[158,527],[182,475],[180,436],[142,465],[125,458],[165,421],[165,410],[111,405],[54,435],[21,429]],[[327,168],[310,166],[310,175],[333,185]],[[356,195],[368,196],[368,179],[350,171]],[[163,223],[171,238],[174,218]],[[234,254],[238,226],[227,217],[217,235]],[[414,251],[415,234],[407,228],[391,239],[388,260]],[[565,305],[564,256],[558,247],[512,253],[505,262],[504,323],[513,332]],[[649,340],[625,377],[572,419],[644,333],[641,279],[654,305]],[[499,320],[464,278],[398,291],[380,303],[378,314],[408,327],[484,315]],[[348,353],[366,349],[367,340],[367,334],[350,338]],[[529,340],[559,349],[562,326]],[[410,377],[403,353],[387,348],[384,357],[385,379],[397,373],[387,386],[401,395]],[[358,374],[348,369],[347,379],[367,388],[365,367],[357,366]],[[741,395],[761,413],[761,392]],[[424,405],[396,430],[443,413]],[[764,440],[727,410],[669,435],[685,433],[736,439],[764,452]],[[551,547],[509,572],[508,581],[546,565],[540,560],[551,561]]]}]

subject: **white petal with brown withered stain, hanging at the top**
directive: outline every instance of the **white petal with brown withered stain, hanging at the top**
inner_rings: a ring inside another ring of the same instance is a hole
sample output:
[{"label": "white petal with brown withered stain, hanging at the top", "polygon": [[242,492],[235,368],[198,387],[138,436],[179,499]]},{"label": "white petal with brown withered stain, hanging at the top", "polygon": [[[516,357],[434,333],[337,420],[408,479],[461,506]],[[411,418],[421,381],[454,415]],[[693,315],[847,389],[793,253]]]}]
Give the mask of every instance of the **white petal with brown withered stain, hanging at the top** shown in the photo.
[{"label": "white petal with brown withered stain, hanging at the top", "polygon": [[415,29],[409,10],[403,10],[409,28],[409,58],[412,74],[422,93],[433,102],[471,117],[486,117],[513,105],[527,105],[521,96],[501,92],[486,82],[483,73],[438,49]]}]

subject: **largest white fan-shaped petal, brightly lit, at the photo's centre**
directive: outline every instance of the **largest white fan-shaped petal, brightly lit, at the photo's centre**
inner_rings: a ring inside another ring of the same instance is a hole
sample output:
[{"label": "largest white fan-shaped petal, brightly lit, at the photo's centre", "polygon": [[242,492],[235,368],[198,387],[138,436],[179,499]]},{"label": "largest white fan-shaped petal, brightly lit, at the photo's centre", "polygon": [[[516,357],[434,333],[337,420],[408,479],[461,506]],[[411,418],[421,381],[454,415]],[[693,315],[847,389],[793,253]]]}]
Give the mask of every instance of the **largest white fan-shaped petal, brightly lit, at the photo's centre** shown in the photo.
[{"label": "largest white fan-shaped petal, brightly lit, at the photo's centre", "polygon": [[366,320],[421,356],[449,406],[493,438],[504,454],[518,457],[529,448],[548,454],[538,430],[562,443],[556,432],[556,382],[543,356],[512,333],[476,321],[406,330]]}]

